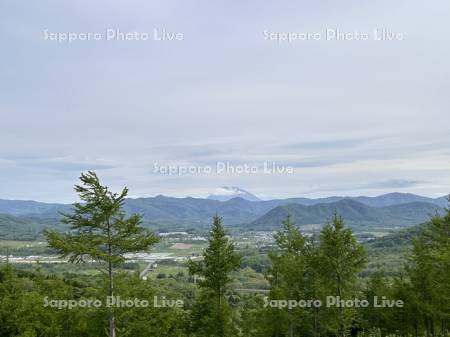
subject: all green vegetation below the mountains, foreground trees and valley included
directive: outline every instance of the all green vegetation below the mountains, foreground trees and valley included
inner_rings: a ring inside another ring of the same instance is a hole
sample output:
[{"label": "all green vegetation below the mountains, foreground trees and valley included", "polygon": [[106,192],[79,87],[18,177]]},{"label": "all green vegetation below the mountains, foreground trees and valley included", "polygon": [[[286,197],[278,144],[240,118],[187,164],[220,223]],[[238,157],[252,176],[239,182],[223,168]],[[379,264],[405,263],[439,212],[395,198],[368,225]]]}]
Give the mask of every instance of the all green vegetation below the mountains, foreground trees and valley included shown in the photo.
[{"label": "all green vegetation below the mountains, foreground trees and valley included", "polygon": [[0,336],[449,336],[448,210],[364,244],[336,213],[311,236],[287,216],[269,246],[235,245],[215,216],[200,254],[162,261],[144,278],[146,265],[124,254],[155,237],[123,211],[126,190],[109,192],[93,173],[82,182],[71,229],[47,238],[89,263],[3,260]]}]

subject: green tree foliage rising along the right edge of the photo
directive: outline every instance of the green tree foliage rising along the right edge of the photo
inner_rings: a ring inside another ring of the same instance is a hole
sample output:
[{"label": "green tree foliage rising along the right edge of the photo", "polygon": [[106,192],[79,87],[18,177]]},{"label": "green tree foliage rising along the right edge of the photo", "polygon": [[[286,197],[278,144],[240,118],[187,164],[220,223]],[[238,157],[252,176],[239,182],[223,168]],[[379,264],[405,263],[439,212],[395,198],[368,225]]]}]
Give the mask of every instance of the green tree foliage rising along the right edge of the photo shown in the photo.
[{"label": "green tree foliage rising along the right edge of the photo", "polygon": [[[415,237],[411,238],[409,232],[415,233]],[[449,211],[401,235],[412,241],[406,274],[394,279],[375,274],[366,283],[364,293],[369,301],[375,295],[386,296],[402,300],[404,306],[395,309],[369,306],[361,310],[364,330],[377,327],[380,335],[447,336],[450,325]]]}]

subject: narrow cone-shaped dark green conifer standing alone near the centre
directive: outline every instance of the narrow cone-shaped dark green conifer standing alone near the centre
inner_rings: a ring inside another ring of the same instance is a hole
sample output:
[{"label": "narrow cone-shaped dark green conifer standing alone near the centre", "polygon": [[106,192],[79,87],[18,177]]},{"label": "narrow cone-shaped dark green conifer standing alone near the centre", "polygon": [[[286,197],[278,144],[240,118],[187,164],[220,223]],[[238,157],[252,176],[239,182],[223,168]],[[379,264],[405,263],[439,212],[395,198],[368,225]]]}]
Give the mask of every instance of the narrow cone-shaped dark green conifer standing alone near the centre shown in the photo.
[{"label": "narrow cone-shaped dark green conifer standing alone near the centre", "polygon": [[225,297],[241,258],[229,242],[222,219],[214,216],[203,260],[190,261],[189,273],[199,278],[200,298],[193,312],[193,330],[198,336],[234,336],[230,307]]}]

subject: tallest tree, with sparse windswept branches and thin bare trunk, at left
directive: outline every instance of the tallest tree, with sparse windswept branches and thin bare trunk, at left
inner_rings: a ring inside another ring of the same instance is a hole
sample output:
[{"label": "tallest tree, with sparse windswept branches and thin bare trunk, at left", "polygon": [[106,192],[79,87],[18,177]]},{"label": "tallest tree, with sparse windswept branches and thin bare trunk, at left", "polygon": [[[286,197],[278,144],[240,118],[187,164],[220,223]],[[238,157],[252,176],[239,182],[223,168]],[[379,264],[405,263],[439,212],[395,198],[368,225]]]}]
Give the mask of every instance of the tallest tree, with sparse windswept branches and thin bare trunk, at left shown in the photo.
[{"label": "tallest tree, with sparse windswept branches and thin bare trunk, at left", "polygon": [[[114,268],[125,262],[124,254],[145,251],[158,239],[142,226],[141,216],[126,217],[123,204],[128,193],[113,193],[100,183],[95,172],[83,173],[81,185],[75,185],[80,202],[73,205],[73,213],[64,214],[63,223],[70,226],[66,234],[46,231],[48,245],[70,262],[86,258],[103,261],[108,271],[108,296],[114,296]],[[115,337],[114,310],[110,308],[109,336]]]}]

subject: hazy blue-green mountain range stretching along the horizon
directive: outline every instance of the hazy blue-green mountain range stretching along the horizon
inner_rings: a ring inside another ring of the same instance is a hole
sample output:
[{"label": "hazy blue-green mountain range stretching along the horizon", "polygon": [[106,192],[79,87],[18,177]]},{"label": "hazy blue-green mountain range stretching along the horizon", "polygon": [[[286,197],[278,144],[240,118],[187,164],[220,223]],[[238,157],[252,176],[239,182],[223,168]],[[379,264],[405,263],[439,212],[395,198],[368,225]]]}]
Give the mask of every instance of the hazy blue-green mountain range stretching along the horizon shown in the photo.
[{"label": "hazy blue-green mountain range stretching along the horizon", "polygon": [[[127,199],[125,210],[128,213],[142,214],[147,226],[161,230],[205,228],[210,225],[215,214],[223,217],[228,226],[277,229],[287,214],[297,224],[316,224],[327,221],[335,211],[349,224],[410,226],[427,220],[430,214],[442,212],[446,206],[446,197],[427,198],[405,193],[377,197],[334,196],[255,201],[242,197],[220,201],[213,198],[173,198],[160,195]],[[67,213],[70,210],[71,205],[68,204],[0,200],[0,214],[6,216],[0,222],[0,232],[2,228],[10,230],[12,225],[14,228],[24,226],[24,222],[39,224],[39,228],[43,224],[55,226],[60,212]]]}]

